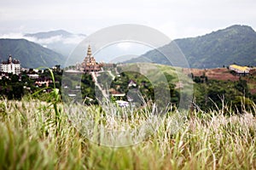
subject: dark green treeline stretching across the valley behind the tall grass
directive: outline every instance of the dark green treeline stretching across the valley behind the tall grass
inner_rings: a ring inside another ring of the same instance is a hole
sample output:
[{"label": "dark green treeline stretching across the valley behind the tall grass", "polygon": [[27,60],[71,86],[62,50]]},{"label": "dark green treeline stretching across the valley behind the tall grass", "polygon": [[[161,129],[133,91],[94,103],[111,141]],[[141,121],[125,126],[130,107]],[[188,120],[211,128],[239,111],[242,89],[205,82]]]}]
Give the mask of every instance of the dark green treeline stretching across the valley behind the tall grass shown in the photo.
[{"label": "dark green treeline stretching across the valley behind the tall grass", "polygon": [[[62,72],[54,71],[55,86],[61,91]],[[170,97],[163,101],[168,101],[172,105],[178,106],[180,100],[180,90],[176,88],[173,83],[175,77],[165,73],[168,85],[165,83],[156,82],[153,84],[148,81],[146,77],[136,72],[122,72],[119,77],[112,77],[108,73],[102,73],[98,77],[98,82],[102,83],[102,88],[111,90],[115,93],[126,94],[121,99],[128,100],[128,97],[133,99],[137,105],[142,105],[142,98],[147,101],[155,102],[155,88],[162,89],[163,92],[169,90]],[[44,71],[40,77],[50,77],[48,71]],[[217,110],[228,106],[230,109],[240,112],[244,109],[250,110],[256,102],[256,95],[251,94],[248,88],[248,83],[244,78],[240,78],[239,81],[218,81],[210,80],[205,75],[201,77],[192,77],[194,84],[194,100],[193,102],[196,107],[202,111]],[[46,88],[45,85],[38,87],[35,85],[35,81],[30,79],[25,73],[21,74],[20,77],[17,75],[9,74],[9,78],[2,77],[0,80],[0,96],[4,96],[7,99],[21,99],[26,94],[33,94],[42,88]],[[108,88],[105,84],[111,82]],[[87,98],[90,100],[90,104],[98,104],[96,99],[96,86],[90,75],[83,74],[77,77],[66,77],[63,86],[67,86],[67,94],[74,94],[75,91],[81,93],[83,99]],[[72,90],[79,87],[79,90]],[[53,88],[53,83],[49,83],[49,87],[46,88],[50,91]],[[38,94],[39,99],[44,100],[44,95],[47,95],[49,91],[42,91]],[[141,95],[141,96],[139,96]],[[63,97],[63,96],[62,96]],[[97,96],[98,98],[99,96]],[[88,103],[88,102],[86,102]]]}]

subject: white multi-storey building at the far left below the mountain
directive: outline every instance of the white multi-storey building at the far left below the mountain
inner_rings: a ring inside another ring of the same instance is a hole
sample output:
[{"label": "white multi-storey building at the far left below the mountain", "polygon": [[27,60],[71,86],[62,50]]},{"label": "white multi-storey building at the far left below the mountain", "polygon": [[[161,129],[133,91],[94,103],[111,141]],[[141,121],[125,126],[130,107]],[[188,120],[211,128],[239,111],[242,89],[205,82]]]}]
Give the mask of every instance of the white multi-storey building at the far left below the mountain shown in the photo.
[{"label": "white multi-storey building at the far left below the mountain", "polygon": [[3,61],[1,64],[1,71],[19,75],[20,61],[17,59],[12,59],[12,56],[9,55],[9,59],[7,61]]}]

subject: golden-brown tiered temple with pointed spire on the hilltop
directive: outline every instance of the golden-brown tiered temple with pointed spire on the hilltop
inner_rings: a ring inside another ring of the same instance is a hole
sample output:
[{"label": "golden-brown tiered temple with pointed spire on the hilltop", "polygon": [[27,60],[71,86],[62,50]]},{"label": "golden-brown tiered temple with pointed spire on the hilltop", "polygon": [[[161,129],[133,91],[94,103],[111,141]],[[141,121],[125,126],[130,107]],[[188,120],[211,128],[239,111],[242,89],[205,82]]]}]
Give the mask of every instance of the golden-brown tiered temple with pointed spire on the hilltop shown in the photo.
[{"label": "golden-brown tiered temple with pointed spire on the hilltop", "polygon": [[84,71],[84,73],[101,71],[102,64],[98,64],[96,59],[91,54],[90,45],[87,49],[87,56],[84,58],[84,61],[81,64],[76,65],[77,70]]}]

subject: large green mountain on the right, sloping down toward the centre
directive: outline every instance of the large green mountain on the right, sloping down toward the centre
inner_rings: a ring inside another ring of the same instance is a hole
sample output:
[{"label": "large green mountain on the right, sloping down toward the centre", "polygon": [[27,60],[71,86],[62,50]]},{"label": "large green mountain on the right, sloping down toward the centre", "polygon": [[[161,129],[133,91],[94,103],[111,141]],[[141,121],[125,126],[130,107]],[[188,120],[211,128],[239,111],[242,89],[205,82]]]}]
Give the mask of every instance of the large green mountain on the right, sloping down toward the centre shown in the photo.
[{"label": "large green mountain on the right, sloping down toward the centre", "polygon": [[[176,39],[161,47],[165,54],[174,54],[173,44],[181,49],[190,67],[214,68],[236,63],[238,65],[256,65],[256,32],[250,26],[230,26],[224,30],[212,31],[205,36]],[[159,64],[169,64],[157,50],[148,51],[137,62],[148,59]]]}]

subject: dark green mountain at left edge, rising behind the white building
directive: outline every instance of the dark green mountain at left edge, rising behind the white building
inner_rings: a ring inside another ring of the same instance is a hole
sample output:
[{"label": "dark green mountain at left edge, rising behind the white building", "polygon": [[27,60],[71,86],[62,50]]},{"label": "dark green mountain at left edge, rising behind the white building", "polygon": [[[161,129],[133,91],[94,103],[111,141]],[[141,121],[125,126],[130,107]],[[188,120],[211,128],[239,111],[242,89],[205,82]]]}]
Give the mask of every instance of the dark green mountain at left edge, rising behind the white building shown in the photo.
[{"label": "dark green mountain at left edge, rising behind the white building", "polygon": [[63,65],[65,58],[49,48],[25,39],[0,39],[0,61],[9,58],[19,59],[22,67],[37,68]]}]

